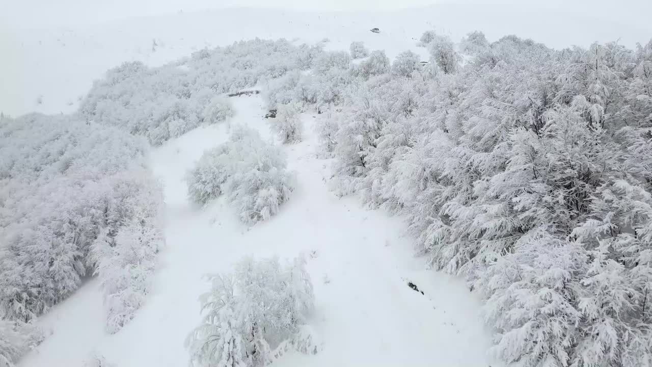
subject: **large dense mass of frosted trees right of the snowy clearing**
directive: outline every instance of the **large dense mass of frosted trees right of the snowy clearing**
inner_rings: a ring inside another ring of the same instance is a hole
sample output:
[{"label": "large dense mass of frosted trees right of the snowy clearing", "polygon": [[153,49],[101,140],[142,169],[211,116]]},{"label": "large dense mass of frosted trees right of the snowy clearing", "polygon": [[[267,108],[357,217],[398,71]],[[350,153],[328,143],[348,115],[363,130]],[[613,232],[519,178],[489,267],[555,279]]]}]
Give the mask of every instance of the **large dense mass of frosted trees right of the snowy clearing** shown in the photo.
[{"label": "large dense mass of frosted trees right of the snowy clearing", "polygon": [[325,53],[268,99],[327,110],[334,191],[404,215],[417,252],[467,278],[496,357],[652,365],[652,42],[420,45],[426,65]]}]

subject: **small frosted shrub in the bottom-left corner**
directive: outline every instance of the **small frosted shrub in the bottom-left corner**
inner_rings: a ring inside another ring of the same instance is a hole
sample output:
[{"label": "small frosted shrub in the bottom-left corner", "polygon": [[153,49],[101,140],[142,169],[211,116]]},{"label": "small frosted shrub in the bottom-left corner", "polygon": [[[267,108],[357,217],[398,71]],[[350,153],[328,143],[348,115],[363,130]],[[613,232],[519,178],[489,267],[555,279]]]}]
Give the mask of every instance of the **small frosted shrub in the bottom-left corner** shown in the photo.
[{"label": "small frosted shrub in the bottom-left corner", "polygon": [[0,367],[13,367],[29,349],[43,341],[43,332],[31,323],[0,319]]}]

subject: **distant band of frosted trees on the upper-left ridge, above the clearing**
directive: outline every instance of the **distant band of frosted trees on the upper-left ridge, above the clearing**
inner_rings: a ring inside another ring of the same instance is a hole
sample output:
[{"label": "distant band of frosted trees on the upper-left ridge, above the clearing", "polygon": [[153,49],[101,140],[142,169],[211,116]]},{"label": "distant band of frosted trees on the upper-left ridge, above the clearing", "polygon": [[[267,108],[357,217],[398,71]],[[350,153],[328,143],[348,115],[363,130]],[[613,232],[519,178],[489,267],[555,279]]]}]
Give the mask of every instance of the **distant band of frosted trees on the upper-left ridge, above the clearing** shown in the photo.
[{"label": "distant band of frosted trees on the upper-left ridge, above the clearing", "polygon": [[201,50],[161,67],[124,63],[93,84],[80,113],[87,121],[117,126],[160,145],[229,117],[232,110],[216,95],[308,69],[319,54],[319,46],[255,39]]}]

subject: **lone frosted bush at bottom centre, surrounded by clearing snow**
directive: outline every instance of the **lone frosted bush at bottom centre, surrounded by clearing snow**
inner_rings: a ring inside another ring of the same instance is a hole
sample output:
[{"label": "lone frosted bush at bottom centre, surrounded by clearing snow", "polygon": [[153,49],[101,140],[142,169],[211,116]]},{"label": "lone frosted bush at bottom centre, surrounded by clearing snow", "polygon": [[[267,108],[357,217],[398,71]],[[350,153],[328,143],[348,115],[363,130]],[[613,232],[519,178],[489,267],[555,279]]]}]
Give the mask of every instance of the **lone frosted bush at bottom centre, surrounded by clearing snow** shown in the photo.
[{"label": "lone frosted bush at bottom centre, surrounded by clearing snow", "polygon": [[316,353],[306,325],[312,311],[312,282],[303,257],[243,259],[232,274],[211,276],[211,291],[201,296],[201,324],[186,339],[190,364],[265,366],[293,347]]}]

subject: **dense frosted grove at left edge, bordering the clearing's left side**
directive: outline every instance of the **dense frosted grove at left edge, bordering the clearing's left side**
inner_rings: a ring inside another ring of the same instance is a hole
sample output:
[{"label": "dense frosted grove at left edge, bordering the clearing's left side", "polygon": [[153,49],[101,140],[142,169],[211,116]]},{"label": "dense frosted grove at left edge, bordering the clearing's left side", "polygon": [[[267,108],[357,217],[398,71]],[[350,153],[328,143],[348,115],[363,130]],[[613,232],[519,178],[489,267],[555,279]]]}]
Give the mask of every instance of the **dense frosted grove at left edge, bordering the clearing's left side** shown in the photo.
[{"label": "dense frosted grove at left edge, bordering the clearing's left side", "polygon": [[29,321],[86,277],[100,278],[108,332],[140,307],[162,242],[162,195],[146,152],[140,138],[74,116],[0,118],[5,364],[40,340]]}]

